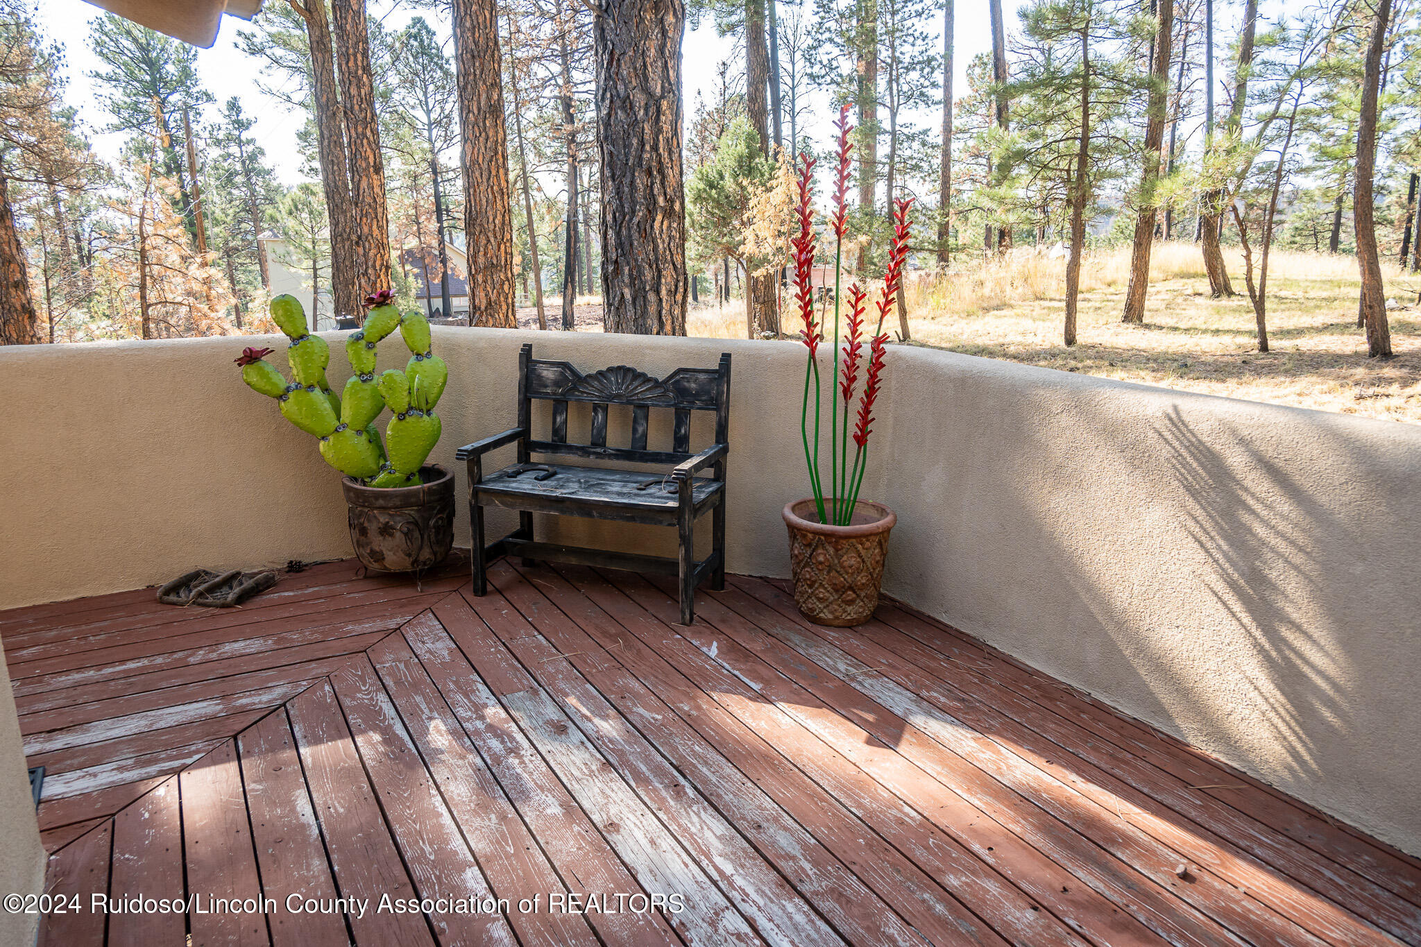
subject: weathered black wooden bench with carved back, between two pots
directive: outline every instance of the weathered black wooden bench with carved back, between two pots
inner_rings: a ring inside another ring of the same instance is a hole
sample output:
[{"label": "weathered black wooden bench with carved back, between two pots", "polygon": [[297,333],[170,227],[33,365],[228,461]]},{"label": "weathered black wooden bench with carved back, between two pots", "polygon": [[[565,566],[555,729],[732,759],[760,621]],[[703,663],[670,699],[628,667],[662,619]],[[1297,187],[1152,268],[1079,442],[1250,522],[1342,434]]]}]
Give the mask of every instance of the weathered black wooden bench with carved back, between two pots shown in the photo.
[{"label": "weathered black wooden bench with carved back, between two pots", "polygon": [[[533,437],[533,402],[553,402],[551,430],[546,440]],[[588,443],[567,439],[567,406],[593,406]],[[631,443],[607,446],[607,412],[611,405],[631,406]],[[651,409],[674,412],[671,450],[649,450],[647,429]],[[691,412],[715,412],[715,443],[691,453]],[[469,520],[473,527],[473,593],[487,592],[487,564],[502,555],[523,559],[604,565],[634,572],[675,575],[681,588],[681,622],[695,618],[695,588],[710,578],[712,589],[725,588],[725,464],[730,420],[730,354],[718,368],[678,368],[666,378],[652,378],[627,365],[612,365],[583,375],[568,362],[533,358],[533,345],[519,352],[519,426],[459,449],[469,463]],[[517,444],[517,463],[483,474],[483,454]],[[659,473],[587,467],[573,463],[531,463],[531,454],[658,464]],[[706,469],[710,476],[698,476]],[[519,511],[519,528],[495,542],[485,542],[483,508]],[[695,521],[712,514],[710,555],[695,561]],[[665,557],[610,552],[533,538],[533,514],[620,520],[676,527],[681,554]]]}]

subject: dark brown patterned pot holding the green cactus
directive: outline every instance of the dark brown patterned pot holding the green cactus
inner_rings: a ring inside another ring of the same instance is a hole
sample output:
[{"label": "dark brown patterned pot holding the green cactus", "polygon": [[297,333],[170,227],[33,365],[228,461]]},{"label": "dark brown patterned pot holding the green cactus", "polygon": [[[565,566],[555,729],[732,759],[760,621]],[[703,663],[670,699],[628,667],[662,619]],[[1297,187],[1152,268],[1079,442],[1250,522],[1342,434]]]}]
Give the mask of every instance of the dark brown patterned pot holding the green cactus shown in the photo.
[{"label": "dark brown patterned pot holding the green cactus", "polygon": [[418,487],[365,487],[341,481],[350,507],[351,545],[365,568],[418,572],[445,561],[453,548],[453,474],[421,467]]}]

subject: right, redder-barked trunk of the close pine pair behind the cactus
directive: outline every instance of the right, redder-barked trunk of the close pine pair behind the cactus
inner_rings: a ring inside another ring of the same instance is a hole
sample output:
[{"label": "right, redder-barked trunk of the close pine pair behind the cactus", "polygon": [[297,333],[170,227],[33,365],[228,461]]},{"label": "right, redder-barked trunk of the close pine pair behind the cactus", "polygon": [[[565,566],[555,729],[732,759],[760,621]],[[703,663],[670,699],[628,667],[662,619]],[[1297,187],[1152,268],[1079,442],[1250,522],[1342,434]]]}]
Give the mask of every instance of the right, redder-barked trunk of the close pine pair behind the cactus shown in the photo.
[{"label": "right, redder-barked trunk of the close pine pair behind the cactus", "polygon": [[[308,0],[317,6],[317,0]],[[331,0],[335,55],[345,118],[351,175],[351,237],[355,246],[355,285],[365,292],[388,290],[389,209],[385,203],[385,162],[379,152],[379,118],[369,68],[365,0]],[[497,45],[495,45],[495,54]],[[499,156],[502,166],[502,152]],[[475,257],[473,253],[469,254]],[[472,287],[470,287],[472,291]]]}]

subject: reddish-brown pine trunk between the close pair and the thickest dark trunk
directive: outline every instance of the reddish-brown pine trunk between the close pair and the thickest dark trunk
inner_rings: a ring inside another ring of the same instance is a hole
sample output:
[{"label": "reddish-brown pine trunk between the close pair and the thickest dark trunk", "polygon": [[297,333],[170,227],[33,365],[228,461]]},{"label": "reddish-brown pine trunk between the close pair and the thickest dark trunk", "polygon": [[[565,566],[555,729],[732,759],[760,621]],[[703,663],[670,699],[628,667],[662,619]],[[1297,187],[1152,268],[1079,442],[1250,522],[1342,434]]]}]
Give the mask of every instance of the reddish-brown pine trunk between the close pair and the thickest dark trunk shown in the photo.
[{"label": "reddish-brown pine trunk between the close pair and the thickest dark trunk", "polygon": [[463,233],[469,324],[516,328],[513,212],[499,10],[493,0],[453,0],[453,58],[463,141]]}]

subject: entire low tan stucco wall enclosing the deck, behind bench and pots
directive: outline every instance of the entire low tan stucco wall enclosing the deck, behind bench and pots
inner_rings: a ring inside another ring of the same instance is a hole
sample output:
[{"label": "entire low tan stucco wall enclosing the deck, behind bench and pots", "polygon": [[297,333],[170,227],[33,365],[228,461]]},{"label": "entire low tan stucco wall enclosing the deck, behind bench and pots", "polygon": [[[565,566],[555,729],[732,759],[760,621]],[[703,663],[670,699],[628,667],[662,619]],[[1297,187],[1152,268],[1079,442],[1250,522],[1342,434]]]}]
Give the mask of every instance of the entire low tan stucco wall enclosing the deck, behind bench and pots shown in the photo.
[{"label": "entire low tan stucco wall enclosing the deck, behind bench and pots", "polygon": [[[435,460],[453,466],[459,444],[513,425],[526,341],[654,373],[733,352],[729,568],[787,572],[779,510],[804,493],[803,348],[436,328],[450,385]],[[0,608],[195,565],[348,555],[337,476],[237,378],[232,358],[253,342],[0,349],[3,403],[43,405],[11,412],[3,433],[9,470],[36,476],[0,487]],[[398,341],[384,348],[402,363]],[[899,515],[892,595],[1421,852],[1421,430],[929,349],[891,356],[864,496]],[[605,541],[608,525],[560,521],[557,535]],[[615,534],[669,549],[669,531]]]}]

